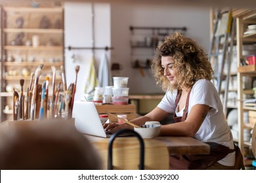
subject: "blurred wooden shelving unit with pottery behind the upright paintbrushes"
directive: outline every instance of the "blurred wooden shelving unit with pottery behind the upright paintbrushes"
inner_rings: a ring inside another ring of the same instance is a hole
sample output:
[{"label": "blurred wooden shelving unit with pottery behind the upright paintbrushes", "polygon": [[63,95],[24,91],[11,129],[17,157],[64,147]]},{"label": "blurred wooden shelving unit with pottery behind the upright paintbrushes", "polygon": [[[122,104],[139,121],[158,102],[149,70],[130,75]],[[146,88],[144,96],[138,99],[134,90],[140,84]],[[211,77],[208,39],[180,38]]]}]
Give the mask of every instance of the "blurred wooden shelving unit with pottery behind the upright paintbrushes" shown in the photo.
[{"label": "blurred wooden shelving unit with pottery behind the upright paintbrushes", "polygon": [[[3,7],[1,16],[1,122],[9,120],[12,107],[12,86],[17,92],[20,79],[24,79],[24,91],[30,83],[30,74],[43,63],[41,83],[49,76],[52,87],[56,67],[56,83],[62,80],[60,66],[64,66],[64,8],[59,7]],[[35,37],[37,39],[35,39]],[[20,39],[20,40],[19,40]],[[25,71],[25,72],[22,72]]]}]

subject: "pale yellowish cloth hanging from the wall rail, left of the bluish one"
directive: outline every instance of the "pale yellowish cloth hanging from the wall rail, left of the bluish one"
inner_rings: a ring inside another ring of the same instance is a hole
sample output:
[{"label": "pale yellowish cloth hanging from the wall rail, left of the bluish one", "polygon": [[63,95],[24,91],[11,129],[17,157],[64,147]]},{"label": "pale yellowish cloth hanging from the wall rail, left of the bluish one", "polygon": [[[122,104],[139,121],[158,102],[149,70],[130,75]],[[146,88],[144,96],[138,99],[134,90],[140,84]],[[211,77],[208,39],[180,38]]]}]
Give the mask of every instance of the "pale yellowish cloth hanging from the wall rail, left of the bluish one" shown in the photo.
[{"label": "pale yellowish cloth hanging from the wall rail, left of the bluish one", "polygon": [[89,65],[88,79],[85,83],[85,93],[93,92],[96,86],[98,86],[98,80],[97,80],[96,71],[95,71],[95,61],[94,61],[94,58],[92,57]]}]

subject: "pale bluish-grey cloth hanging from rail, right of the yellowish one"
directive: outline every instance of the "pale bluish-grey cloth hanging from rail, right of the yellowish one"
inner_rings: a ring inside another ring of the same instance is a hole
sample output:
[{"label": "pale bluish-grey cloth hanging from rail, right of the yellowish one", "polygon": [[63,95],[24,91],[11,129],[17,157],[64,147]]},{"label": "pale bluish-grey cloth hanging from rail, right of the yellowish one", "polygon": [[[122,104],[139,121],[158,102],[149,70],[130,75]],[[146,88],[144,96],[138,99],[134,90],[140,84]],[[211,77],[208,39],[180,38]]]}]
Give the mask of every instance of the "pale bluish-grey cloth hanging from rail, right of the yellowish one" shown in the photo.
[{"label": "pale bluish-grey cloth hanging from rail, right of the yellowish one", "polygon": [[100,60],[100,66],[98,67],[98,84],[100,87],[111,86],[112,78],[110,73],[110,67],[108,65],[108,57],[106,52]]}]

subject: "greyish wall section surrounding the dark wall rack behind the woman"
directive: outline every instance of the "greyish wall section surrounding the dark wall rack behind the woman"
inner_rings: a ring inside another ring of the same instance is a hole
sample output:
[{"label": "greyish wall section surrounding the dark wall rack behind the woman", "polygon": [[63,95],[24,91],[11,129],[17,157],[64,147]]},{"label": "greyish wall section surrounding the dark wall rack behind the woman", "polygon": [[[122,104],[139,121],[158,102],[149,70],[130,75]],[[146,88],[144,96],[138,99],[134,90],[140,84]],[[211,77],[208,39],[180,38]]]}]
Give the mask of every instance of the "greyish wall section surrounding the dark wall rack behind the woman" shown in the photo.
[{"label": "greyish wall section surrounding the dark wall rack behind the woman", "polygon": [[160,93],[150,69],[144,69],[142,77],[138,69],[131,68],[131,48],[129,26],[183,27],[186,35],[208,50],[209,47],[209,8],[175,7],[171,5],[139,5],[135,3],[112,4],[112,62],[123,65],[122,76],[129,76],[130,93]]}]

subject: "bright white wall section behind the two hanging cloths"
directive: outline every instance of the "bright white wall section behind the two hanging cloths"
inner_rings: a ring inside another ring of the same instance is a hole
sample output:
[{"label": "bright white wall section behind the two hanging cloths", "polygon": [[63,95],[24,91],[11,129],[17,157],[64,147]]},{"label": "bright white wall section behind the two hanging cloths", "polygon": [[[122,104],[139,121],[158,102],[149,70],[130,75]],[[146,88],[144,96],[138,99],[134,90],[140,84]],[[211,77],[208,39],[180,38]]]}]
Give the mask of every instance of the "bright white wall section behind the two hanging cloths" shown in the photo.
[{"label": "bright white wall section behind the two hanging cloths", "polygon": [[[110,5],[108,3],[95,3],[95,46],[110,46]],[[65,47],[91,47],[93,46],[93,24],[91,3],[65,3],[64,4]],[[75,62],[72,55],[75,55]],[[104,50],[95,50],[95,67],[98,68]],[[109,58],[110,53],[108,53]],[[93,50],[66,49],[65,67],[67,84],[75,82],[75,66],[79,65],[77,77],[77,90],[75,100],[84,99],[85,81],[88,78],[89,60]],[[110,61],[110,59],[108,59]]]}]

